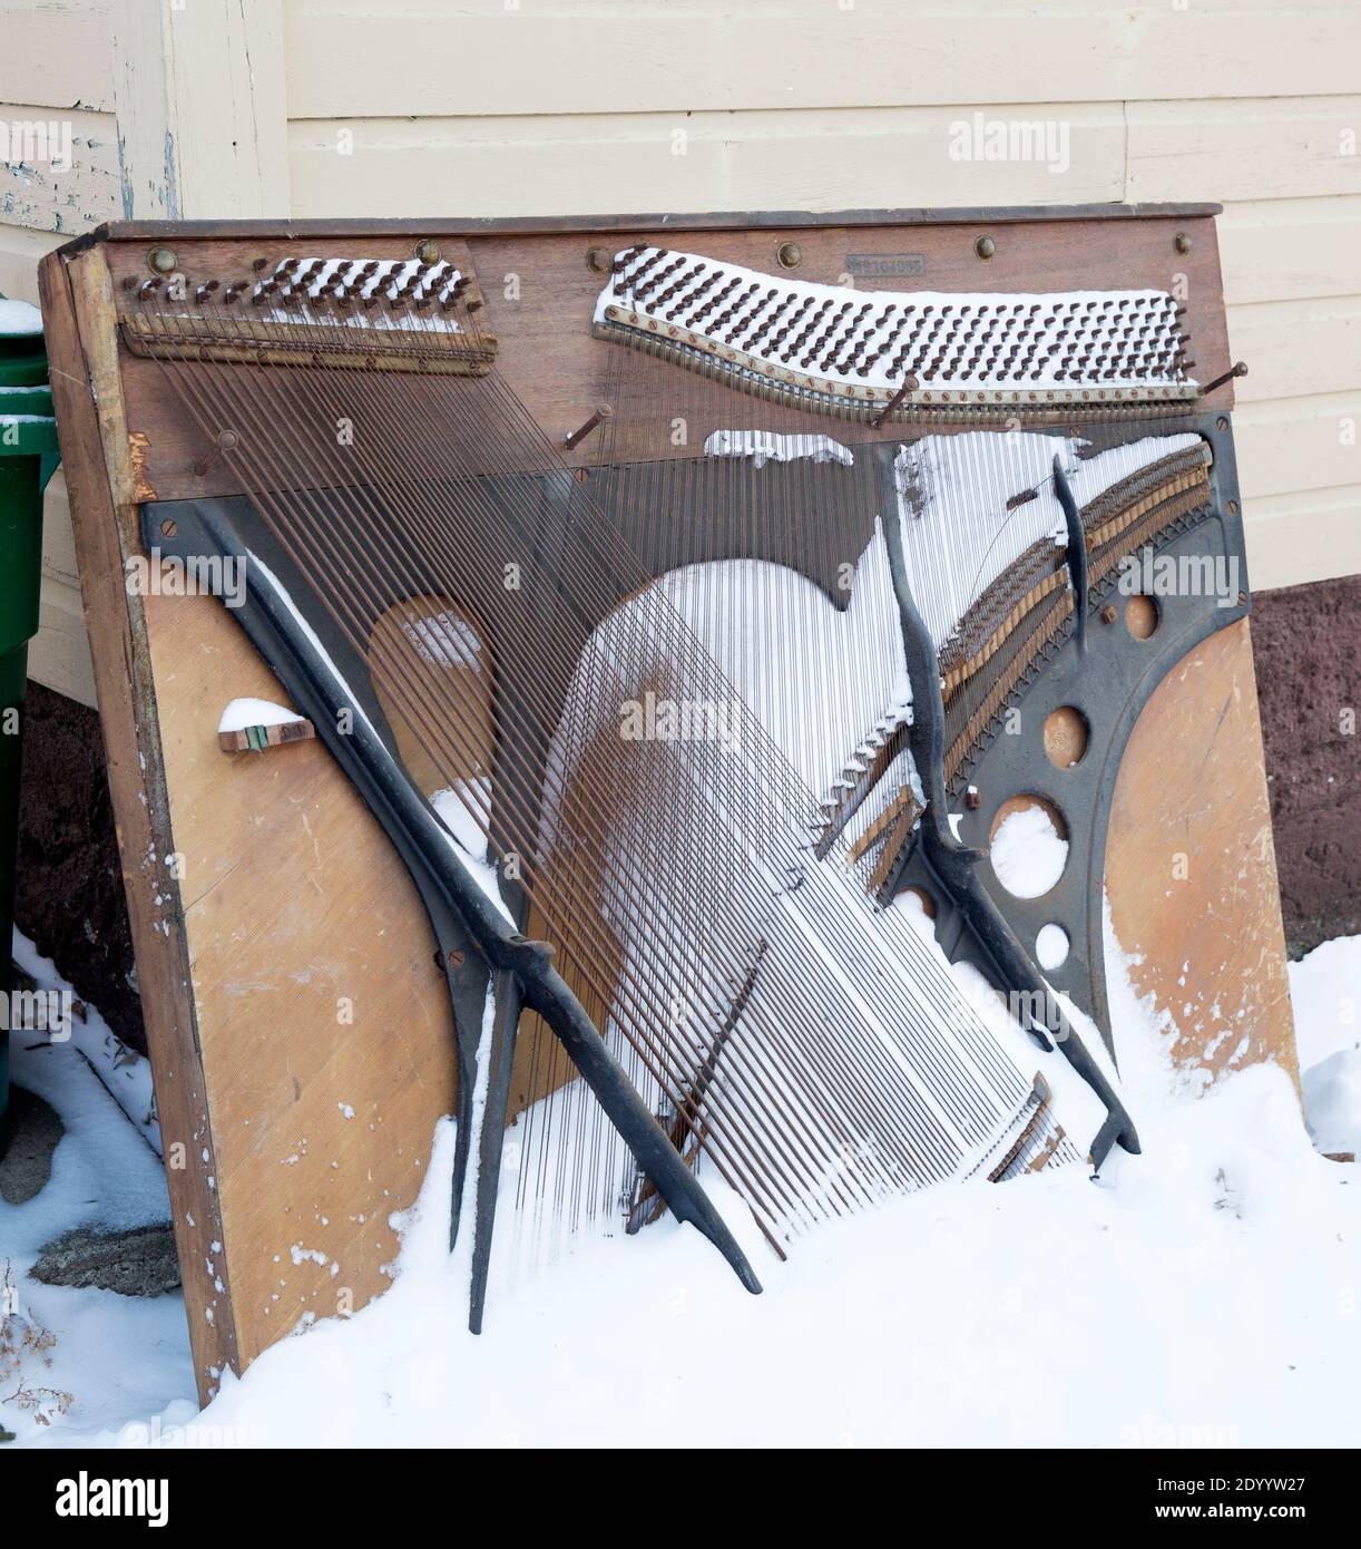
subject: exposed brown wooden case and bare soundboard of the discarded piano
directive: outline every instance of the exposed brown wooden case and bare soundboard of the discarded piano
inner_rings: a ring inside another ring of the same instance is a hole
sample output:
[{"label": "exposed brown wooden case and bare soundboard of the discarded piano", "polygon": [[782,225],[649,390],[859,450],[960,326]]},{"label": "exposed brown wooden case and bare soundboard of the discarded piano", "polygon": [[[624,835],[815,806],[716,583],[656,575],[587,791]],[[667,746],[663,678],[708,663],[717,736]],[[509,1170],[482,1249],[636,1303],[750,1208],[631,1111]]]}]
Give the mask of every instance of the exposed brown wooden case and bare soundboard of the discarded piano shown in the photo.
[{"label": "exposed brown wooden case and bare soundboard of the discarded piano", "polygon": [[[245,634],[209,598],[124,586],[125,561],[141,553],[138,503],[223,486],[220,468],[195,477],[203,448],[161,401],[159,367],[119,349],[116,282],[144,276],[163,242],[190,276],[207,259],[217,273],[248,273],[262,256],[465,245],[502,369],[561,438],[604,383],[607,347],[588,331],[601,285],[591,249],[692,242],[774,270],[780,245],[797,242],[799,279],[842,280],[884,257],[912,271],[858,277],[864,288],[1178,285],[1206,380],[1229,366],[1212,214],[687,217],[686,229],[657,218],[201,223],[192,239],[124,223],[45,260],[53,389],[204,1397],[299,1320],[347,1315],[389,1284],[389,1218],[415,1199],[435,1123],[452,1111],[454,1033],[417,892],[324,747],[220,750],[228,700],[282,699]],[[997,243],[986,263],[983,234]],[[1209,407],[1229,406],[1225,386]],[[1178,852],[1189,872],[1172,881]],[[1246,624],[1197,647],[1144,709],[1107,875],[1119,939],[1143,959],[1138,985],[1180,1027],[1174,1056],[1209,1069],[1276,1058],[1293,1070]],[[1242,1036],[1214,1042],[1226,1024]]]}]

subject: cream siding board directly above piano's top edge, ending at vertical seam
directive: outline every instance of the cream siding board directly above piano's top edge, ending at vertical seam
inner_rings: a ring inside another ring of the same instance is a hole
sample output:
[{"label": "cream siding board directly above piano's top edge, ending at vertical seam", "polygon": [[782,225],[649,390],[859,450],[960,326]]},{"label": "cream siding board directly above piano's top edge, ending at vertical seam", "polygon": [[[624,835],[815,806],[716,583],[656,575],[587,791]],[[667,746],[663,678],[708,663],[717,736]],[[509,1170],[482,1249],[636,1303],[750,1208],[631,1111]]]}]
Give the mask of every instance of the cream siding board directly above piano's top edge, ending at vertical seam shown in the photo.
[{"label": "cream siding board directly above piano's top edge, ending at vertical seam", "polygon": [[[1070,132],[1044,160],[957,160],[948,108],[845,113],[697,113],[626,118],[463,118],[293,122],[290,172],[299,217],[406,215],[457,187],[483,215],[574,214],[591,189],[616,208],[825,209],[886,189],[927,204],[1115,203],[1126,132],[1109,105],[1053,108]],[[684,139],[674,139],[683,133]],[[341,135],[348,155],[341,155]],[[683,153],[678,153],[683,152]],[[1053,152],[1053,155],[1050,155]]]}]

